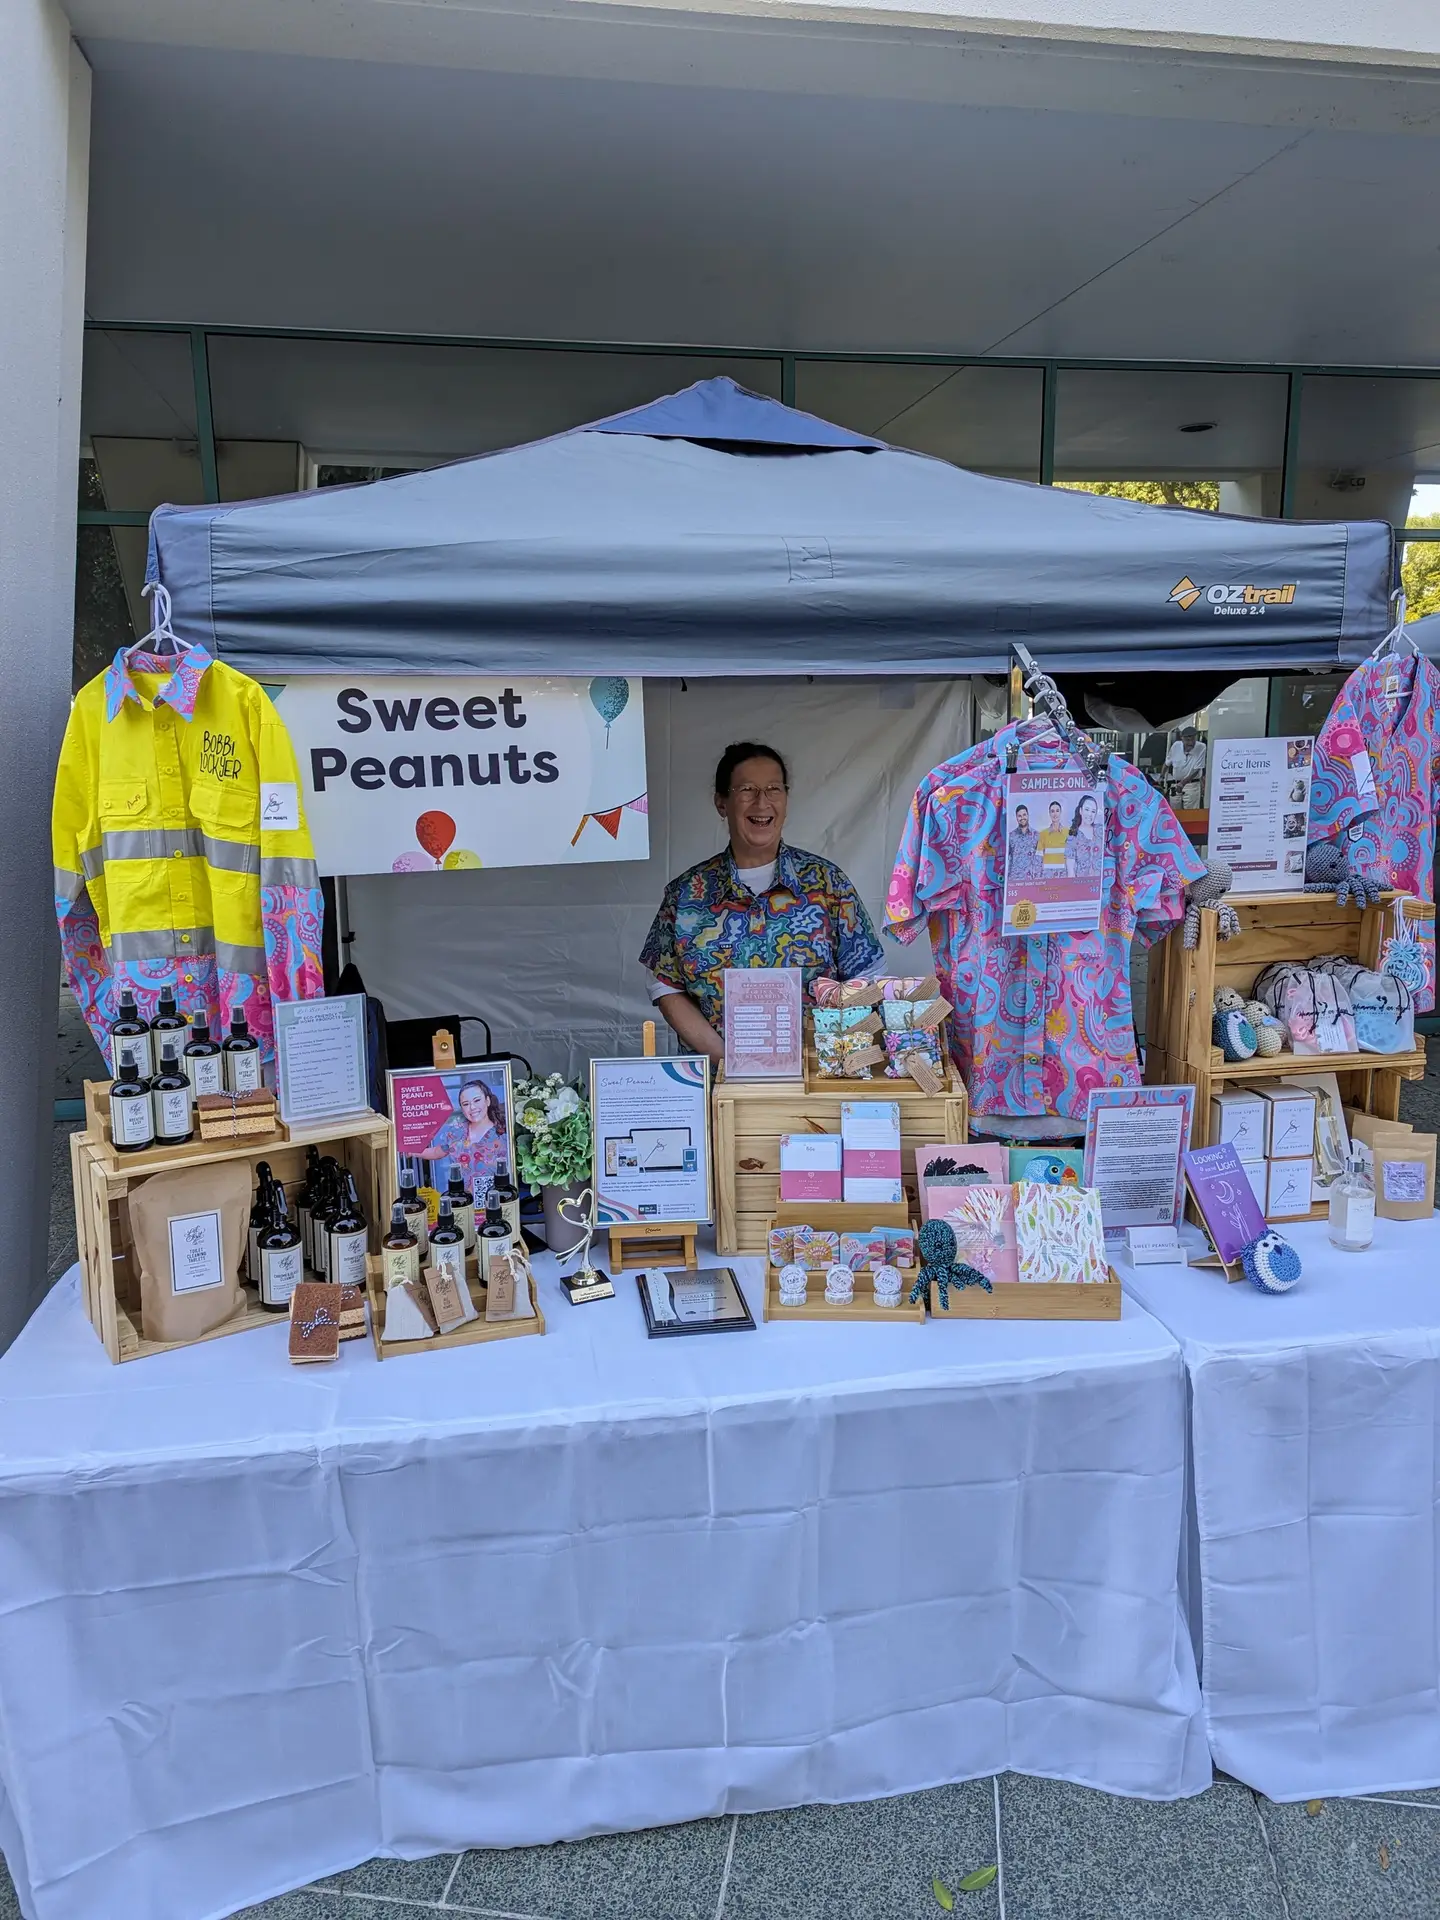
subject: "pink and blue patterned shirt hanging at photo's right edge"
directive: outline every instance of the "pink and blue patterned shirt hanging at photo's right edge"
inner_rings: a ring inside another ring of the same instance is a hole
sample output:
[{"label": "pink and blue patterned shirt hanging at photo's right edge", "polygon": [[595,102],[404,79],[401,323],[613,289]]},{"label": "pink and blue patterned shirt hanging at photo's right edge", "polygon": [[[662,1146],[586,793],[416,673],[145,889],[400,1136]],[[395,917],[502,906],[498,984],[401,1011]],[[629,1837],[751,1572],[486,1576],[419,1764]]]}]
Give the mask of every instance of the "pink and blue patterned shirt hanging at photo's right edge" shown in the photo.
[{"label": "pink and blue patterned shirt hanging at photo's right edge", "polygon": [[[1390,695],[1386,695],[1390,684]],[[1359,781],[1369,755],[1375,793]],[[1356,764],[1359,762],[1359,766]],[[1309,841],[1350,833],[1352,864],[1382,885],[1434,899],[1434,810],[1440,803],[1440,670],[1425,655],[1365,660],[1340,687],[1315,741]],[[1434,1006],[1434,922],[1421,920],[1430,983],[1415,996]]]}]

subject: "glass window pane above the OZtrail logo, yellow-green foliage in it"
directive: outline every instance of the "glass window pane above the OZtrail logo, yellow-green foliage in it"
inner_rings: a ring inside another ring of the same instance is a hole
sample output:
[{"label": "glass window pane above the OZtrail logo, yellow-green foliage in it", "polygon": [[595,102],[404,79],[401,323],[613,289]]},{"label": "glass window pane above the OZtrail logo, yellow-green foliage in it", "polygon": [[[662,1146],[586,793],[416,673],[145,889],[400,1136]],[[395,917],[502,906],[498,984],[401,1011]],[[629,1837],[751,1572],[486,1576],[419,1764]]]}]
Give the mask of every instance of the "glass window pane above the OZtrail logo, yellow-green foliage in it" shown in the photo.
[{"label": "glass window pane above the OZtrail logo, yellow-green foliage in it", "polygon": [[1129,499],[1279,515],[1288,380],[1062,369],[1054,476]]}]

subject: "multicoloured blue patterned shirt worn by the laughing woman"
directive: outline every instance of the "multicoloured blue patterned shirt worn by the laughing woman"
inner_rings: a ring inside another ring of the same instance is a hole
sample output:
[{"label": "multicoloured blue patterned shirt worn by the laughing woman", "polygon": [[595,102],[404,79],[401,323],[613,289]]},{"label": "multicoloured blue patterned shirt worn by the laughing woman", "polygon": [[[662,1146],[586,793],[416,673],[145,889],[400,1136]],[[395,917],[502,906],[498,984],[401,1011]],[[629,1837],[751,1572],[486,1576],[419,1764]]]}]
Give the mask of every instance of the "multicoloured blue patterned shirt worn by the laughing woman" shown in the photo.
[{"label": "multicoloured blue patterned shirt worn by the laughing woman", "polygon": [[730,849],[672,879],[639,962],[718,1025],[726,968],[797,966],[808,989],[822,973],[874,973],[885,954],[860,895],[833,860],[781,841],[776,877],[762,893],[737,876]]}]

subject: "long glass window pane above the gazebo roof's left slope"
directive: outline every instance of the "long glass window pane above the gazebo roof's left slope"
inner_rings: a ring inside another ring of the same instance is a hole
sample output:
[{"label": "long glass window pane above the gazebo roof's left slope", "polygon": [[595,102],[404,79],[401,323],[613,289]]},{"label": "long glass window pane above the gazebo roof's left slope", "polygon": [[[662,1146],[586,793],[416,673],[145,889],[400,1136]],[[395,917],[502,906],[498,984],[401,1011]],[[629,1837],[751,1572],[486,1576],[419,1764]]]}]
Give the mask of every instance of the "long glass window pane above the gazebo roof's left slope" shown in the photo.
[{"label": "long glass window pane above the gazebo roof's left slope", "polygon": [[315,467],[432,467],[714,374],[780,399],[778,359],[209,336],[217,436],[298,444]]}]

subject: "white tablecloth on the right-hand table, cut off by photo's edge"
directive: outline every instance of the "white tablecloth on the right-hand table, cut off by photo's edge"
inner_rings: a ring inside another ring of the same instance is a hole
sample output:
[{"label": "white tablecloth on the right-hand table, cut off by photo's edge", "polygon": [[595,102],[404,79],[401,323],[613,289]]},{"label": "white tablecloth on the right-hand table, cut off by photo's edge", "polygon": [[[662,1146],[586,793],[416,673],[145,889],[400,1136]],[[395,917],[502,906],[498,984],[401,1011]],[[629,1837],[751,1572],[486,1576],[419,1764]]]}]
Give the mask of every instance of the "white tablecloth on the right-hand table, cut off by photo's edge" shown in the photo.
[{"label": "white tablecloth on the right-hand table, cut off by photo's edge", "polygon": [[1271,1799],[1440,1784],[1440,1221],[1377,1221],[1271,1298],[1116,1261],[1192,1384],[1215,1764]]}]

